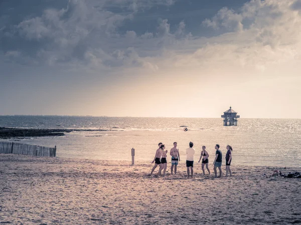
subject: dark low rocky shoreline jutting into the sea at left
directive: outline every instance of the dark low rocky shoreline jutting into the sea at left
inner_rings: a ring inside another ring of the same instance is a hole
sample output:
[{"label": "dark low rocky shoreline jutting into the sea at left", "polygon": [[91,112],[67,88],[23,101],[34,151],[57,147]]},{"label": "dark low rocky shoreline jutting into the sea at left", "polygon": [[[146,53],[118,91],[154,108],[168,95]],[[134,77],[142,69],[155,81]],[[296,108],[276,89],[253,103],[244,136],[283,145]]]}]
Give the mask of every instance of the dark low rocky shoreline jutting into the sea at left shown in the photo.
[{"label": "dark low rocky shoreline jutting into the sea at left", "polygon": [[0,138],[23,138],[39,136],[64,136],[72,131],[111,131],[111,129],[36,129],[36,128],[8,128],[0,127]]}]

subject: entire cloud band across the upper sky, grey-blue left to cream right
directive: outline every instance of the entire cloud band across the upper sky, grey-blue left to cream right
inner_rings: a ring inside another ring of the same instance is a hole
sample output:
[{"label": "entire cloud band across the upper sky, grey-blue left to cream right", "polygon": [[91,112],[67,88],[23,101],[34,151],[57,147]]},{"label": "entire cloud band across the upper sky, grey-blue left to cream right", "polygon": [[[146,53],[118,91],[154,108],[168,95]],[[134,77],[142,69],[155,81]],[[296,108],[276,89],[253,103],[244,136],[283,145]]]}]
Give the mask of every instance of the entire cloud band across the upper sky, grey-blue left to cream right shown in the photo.
[{"label": "entire cloud band across the upper sky, grey-blue left to cream right", "polygon": [[187,34],[184,21],[173,33],[170,22],[164,18],[159,20],[156,33],[145,30],[137,35],[127,30],[121,35],[117,28],[131,19],[132,11],[118,14],[105,9],[112,4],[133,4],[135,11],[175,3],[169,0],[72,0],[67,8],[45,10],[41,17],[27,19],[18,28],[29,39],[48,42],[38,56],[49,64],[74,60],[101,68],[146,66],[162,70],[169,66],[201,66],[209,70],[210,66],[219,65],[264,71],[273,64],[299,60],[299,2],[251,0],[236,11],[224,7],[203,21],[203,25],[223,32],[208,38]]}]

